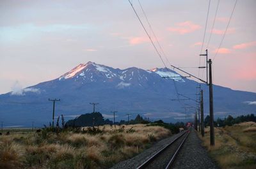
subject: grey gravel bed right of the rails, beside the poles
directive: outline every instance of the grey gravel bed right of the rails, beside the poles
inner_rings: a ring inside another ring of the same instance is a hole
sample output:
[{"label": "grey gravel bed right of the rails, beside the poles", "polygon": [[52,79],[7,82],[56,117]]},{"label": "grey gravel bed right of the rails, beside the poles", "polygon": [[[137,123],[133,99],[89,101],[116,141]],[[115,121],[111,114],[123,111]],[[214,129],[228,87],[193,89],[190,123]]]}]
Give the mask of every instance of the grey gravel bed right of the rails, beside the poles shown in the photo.
[{"label": "grey gravel bed right of the rails, beside the poles", "polygon": [[191,132],[175,159],[172,168],[175,169],[217,169],[218,167],[209,158],[207,151],[202,147],[201,140],[195,133]]}]

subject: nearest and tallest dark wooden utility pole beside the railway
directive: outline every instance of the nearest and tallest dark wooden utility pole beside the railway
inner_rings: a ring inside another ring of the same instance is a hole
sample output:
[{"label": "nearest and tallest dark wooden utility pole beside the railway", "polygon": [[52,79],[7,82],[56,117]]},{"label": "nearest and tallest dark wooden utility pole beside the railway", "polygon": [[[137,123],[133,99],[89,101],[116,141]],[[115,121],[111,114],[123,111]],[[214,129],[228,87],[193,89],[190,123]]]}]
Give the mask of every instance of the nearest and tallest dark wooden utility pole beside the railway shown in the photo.
[{"label": "nearest and tallest dark wooden utility pole beside the railway", "polygon": [[212,94],[212,60],[209,59],[209,101],[210,101],[210,140],[211,145],[214,145],[214,117],[213,117],[213,94]]}]

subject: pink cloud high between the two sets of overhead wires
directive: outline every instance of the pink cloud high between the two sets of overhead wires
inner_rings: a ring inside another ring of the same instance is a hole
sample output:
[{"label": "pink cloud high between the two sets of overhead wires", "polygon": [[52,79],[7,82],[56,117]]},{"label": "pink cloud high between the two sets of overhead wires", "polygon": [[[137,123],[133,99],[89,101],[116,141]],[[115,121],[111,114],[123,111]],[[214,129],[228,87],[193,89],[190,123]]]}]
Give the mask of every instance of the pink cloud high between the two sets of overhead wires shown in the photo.
[{"label": "pink cloud high between the two sets of overhead wires", "polygon": [[192,33],[198,29],[201,29],[200,25],[194,24],[191,21],[180,22],[175,24],[175,27],[169,27],[168,31],[179,33],[179,34],[186,34]]}]

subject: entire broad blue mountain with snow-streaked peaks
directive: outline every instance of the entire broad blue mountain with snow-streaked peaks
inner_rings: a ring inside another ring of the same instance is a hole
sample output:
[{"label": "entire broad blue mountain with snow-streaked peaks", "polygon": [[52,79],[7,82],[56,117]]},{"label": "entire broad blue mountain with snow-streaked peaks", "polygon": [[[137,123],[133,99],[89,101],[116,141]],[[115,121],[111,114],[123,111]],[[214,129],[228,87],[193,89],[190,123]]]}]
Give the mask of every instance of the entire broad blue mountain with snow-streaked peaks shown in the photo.
[{"label": "entire broad blue mountain with snow-streaked peaks", "polygon": [[[169,77],[169,78],[164,78]],[[176,89],[175,89],[175,85]],[[208,88],[204,84],[205,114],[209,112]],[[0,95],[0,119],[6,125],[26,125],[31,121],[40,126],[51,121],[52,102],[48,98],[60,98],[56,102],[56,116],[66,118],[92,112],[90,102],[98,102],[96,110],[105,117],[117,110],[118,119],[127,119],[125,114],[141,114],[151,119],[177,121],[192,117],[195,101],[171,101],[180,94],[196,99],[198,83],[181,78],[179,73],[167,68],[120,70],[95,62],[79,64],[60,77],[42,82],[20,91]],[[177,91],[176,91],[177,90]],[[180,99],[182,96],[179,96]],[[233,91],[214,85],[214,112],[216,117],[227,114],[256,112],[256,94]],[[17,117],[17,118],[13,118]]]}]

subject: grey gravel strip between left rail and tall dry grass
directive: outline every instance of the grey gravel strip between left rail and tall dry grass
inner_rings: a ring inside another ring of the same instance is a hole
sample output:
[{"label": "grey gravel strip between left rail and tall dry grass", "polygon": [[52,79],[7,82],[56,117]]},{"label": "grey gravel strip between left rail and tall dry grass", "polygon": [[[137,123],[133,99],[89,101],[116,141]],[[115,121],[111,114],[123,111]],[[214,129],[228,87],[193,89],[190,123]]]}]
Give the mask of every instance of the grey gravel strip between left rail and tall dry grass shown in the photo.
[{"label": "grey gravel strip between left rail and tall dry grass", "polygon": [[120,168],[131,169],[131,168],[136,168],[136,167],[140,166],[144,161],[146,161],[148,158],[150,158],[150,156],[152,156],[152,154],[155,154],[157,151],[159,151],[159,149],[163,148],[164,145],[172,142],[172,140],[174,140],[175,138],[180,136],[182,133],[172,135],[168,138],[165,138],[165,139],[157,142],[149,149],[146,149],[145,151],[141,152],[140,154],[138,154],[137,156],[134,156],[131,159],[127,159],[125,161],[122,161],[121,163],[114,165],[111,169],[120,169]]}]

